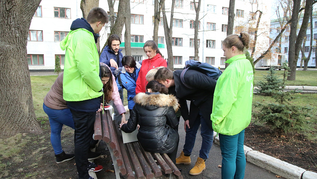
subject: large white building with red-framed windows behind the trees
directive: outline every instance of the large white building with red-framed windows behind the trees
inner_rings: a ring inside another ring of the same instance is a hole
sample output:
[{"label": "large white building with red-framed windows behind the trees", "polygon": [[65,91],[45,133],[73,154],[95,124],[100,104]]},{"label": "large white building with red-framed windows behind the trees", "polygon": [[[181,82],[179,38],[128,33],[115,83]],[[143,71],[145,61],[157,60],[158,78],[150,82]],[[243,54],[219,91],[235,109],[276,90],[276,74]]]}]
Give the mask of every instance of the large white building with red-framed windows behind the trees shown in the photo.
[{"label": "large white building with red-framed windows behind the trees", "polygon": [[[118,12],[118,3],[115,3],[115,12]],[[131,0],[131,51],[136,60],[147,59],[143,46],[153,36],[154,0]],[[100,1],[99,7],[109,11],[107,1]],[[270,15],[270,0],[236,0],[236,13],[234,34],[247,32],[254,38],[254,30],[259,13],[263,12],[259,26],[255,57],[259,56],[262,48],[268,46]],[[222,40],[226,38],[228,22],[229,1],[202,0],[200,7],[199,61],[207,62],[215,67],[224,68],[225,58],[222,50]],[[171,2],[165,1],[167,21],[170,22]],[[71,23],[76,18],[81,18],[80,0],[49,1],[42,0],[30,26],[28,38],[28,64],[30,70],[52,70],[55,68],[55,57],[61,60],[61,68],[64,64],[65,51],[60,49],[59,43],[69,32]],[[163,15],[161,14],[161,17]],[[173,56],[174,68],[183,68],[185,61],[194,59],[194,24],[196,12],[193,0],[176,0],[173,17]],[[121,35],[122,53],[124,51],[124,32]],[[100,32],[100,48],[107,40],[110,28]],[[159,49],[163,58],[167,59],[167,49],[163,21],[159,25]],[[259,47],[258,47],[259,46]],[[100,49],[102,50],[102,49]]]}]

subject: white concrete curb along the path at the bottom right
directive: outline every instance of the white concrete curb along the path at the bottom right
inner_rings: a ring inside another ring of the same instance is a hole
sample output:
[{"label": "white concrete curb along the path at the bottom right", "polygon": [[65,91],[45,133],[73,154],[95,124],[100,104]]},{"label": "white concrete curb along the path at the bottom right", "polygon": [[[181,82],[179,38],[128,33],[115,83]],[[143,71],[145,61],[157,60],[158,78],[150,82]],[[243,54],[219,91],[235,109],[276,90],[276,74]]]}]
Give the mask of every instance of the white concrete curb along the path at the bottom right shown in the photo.
[{"label": "white concrete curb along the path at the bottom right", "polygon": [[[214,132],[214,142],[219,145],[219,136]],[[271,157],[259,151],[254,151],[244,145],[244,154],[248,162],[255,164],[263,169],[271,171],[276,175],[287,179],[316,179],[317,173],[306,171],[300,167],[283,162],[277,158]]]}]

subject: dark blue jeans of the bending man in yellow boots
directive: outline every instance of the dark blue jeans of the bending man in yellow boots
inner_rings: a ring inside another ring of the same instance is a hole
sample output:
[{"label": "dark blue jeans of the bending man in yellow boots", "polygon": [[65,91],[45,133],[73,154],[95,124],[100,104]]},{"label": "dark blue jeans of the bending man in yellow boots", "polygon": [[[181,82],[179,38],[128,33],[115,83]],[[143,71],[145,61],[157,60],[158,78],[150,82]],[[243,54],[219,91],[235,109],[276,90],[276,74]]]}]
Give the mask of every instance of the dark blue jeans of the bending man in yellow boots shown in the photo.
[{"label": "dark blue jeans of the bending man in yellow boots", "polygon": [[206,160],[212,146],[214,130],[208,127],[204,117],[200,113],[191,128],[186,126],[186,137],[183,152],[186,156],[191,155],[191,151],[193,150],[196,141],[196,134],[200,125],[200,135],[203,140],[199,151],[199,157]]}]

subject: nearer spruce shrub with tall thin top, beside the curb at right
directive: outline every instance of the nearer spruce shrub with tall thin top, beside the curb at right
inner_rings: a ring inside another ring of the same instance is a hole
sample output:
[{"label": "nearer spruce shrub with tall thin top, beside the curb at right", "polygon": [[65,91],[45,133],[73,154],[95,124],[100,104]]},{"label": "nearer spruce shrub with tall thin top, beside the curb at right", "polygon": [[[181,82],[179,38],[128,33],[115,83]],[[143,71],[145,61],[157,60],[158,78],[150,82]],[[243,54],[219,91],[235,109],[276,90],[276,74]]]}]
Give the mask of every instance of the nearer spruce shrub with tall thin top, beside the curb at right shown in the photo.
[{"label": "nearer spruce shrub with tall thin top, beside the curb at right", "polygon": [[279,89],[268,89],[263,93],[272,94],[275,103],[253,104],[256,108],[260,108],[260,112],[252,113],[252,116],[259,122],[269,126],[271,130],[281,129],[287,133],[290,129],[301,131],[307,127],[306,117],[311,116],[309,111],[313,108],[311,106],[297,106],[292,105],[289,101],[295,97],[294,93],[300,93],[302,90],[283,91],[284,83],[287,80],[288,71],[290,70],[287,63],[283,63],[282,69],[285,70],[283,80],[281,83],[281,91]]}]

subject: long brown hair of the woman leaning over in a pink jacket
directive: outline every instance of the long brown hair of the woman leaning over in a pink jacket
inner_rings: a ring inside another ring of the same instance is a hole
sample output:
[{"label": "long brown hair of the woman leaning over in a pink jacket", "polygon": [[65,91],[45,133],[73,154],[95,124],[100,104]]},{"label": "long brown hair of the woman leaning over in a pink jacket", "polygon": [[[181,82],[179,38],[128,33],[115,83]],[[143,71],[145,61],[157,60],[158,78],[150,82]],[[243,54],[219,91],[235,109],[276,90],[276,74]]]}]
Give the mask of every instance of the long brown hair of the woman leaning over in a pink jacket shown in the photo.
[{"label": "long brown hair of the woman leaning over in a pink jacket", "polygon": [[110,102],[112,100],[112,93],[113,93],[113,79],[111,70],[105,66],[100,66],[101,71],[101,78],[109,77],[109,81],[103,86],[103,94],[105,96],[104,102]]}]

